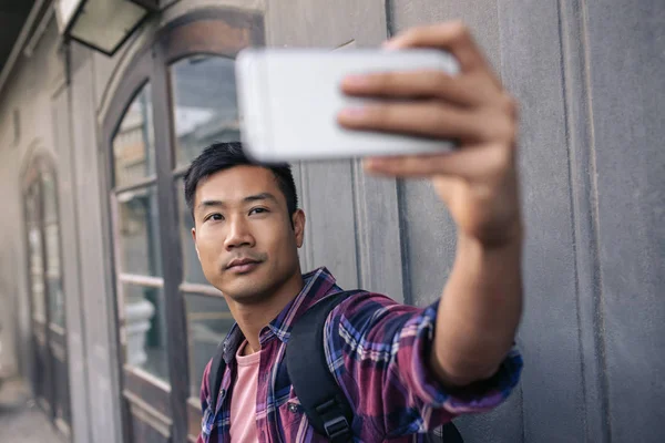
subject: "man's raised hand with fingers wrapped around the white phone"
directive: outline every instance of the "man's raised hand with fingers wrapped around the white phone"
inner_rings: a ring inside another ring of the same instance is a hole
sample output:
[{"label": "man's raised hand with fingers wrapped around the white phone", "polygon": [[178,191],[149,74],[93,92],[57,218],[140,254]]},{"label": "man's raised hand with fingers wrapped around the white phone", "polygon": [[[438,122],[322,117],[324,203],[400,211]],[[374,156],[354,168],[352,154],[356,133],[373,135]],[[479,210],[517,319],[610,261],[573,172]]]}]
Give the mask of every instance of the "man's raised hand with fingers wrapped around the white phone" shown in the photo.
[{"label": "man's raised hand with fingers wrapped around the white phone", "polygon": [[[430,178],[470,244],[494,250],[521,238],[516,173],[518,105],[505,91],[469,31],[460,22],[413,28],[388,43],[399,51],[432,48],[449,51],[460,64],[457,75],[391,72],[346,81],[356,97],[391,99],[342,112],[339,122],[355,131],[454,138],[454,152],[368,158],[366,169],[400,178]],[[402,102],[418,96],[418,101]]]}]

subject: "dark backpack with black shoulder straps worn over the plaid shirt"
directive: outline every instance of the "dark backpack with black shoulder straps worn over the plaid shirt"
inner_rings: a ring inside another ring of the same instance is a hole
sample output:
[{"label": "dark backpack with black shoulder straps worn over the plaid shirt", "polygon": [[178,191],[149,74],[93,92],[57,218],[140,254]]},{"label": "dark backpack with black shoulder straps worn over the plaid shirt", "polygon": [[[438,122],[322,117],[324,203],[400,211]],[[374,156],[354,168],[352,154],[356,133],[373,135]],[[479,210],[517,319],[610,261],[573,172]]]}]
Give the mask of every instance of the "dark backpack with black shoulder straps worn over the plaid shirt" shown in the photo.
[{"label": "dark backpack with black shoulder straps worn over the plaid shirt", "polygon": [[[352,442],[352,409],[348,399],[328,369],[324,350],[324,324],[328,313],[345,298],[360,291],[342,291],[324,298],[310,307],[294,324],[286,346],[286,368],[294,390],[309,423],[331,443]],[[226,363],[223,346],[217,348],[208,372],[211,405],[217,404]],[[452,422],[448,422],[426,437],[427,442],[463,443]]]}]

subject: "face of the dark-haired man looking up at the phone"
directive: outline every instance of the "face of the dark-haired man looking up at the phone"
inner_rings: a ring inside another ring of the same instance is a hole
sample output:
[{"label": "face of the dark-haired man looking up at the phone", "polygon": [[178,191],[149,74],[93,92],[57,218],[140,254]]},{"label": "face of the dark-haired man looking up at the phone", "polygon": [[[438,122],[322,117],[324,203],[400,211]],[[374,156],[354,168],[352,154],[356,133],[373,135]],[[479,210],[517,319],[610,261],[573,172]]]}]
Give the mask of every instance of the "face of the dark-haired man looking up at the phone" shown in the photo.
[{"label": "face of the dark-haired man looking up at the phone", "polygon": [[233,300],[259,302],[299,278],[305,215],[288,214],[272,171],[234,166],[200,182],[194,218],[203,272]]}]

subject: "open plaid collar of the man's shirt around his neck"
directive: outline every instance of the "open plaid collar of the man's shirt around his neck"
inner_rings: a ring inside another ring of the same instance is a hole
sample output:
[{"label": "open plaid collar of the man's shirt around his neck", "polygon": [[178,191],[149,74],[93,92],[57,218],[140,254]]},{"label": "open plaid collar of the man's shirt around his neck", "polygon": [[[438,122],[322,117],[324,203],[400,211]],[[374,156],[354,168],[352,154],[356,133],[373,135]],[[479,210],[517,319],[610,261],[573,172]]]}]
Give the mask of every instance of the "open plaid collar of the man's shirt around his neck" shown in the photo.
[{"label": "open plaid collar of the man's shirt around his neck", "polygon": [[[303,280],[304,286],[300,292],[260,331],[259,343],[262,346],[274,337],[285,343],[288,342],[293,324],[310,306],[326,295],[341,290],[326,267],[303,275]],[[237,323],[234,323],[224,340],[224,360],[227,364],[235,359],[236,351],[244,340],[243,331]]]}]

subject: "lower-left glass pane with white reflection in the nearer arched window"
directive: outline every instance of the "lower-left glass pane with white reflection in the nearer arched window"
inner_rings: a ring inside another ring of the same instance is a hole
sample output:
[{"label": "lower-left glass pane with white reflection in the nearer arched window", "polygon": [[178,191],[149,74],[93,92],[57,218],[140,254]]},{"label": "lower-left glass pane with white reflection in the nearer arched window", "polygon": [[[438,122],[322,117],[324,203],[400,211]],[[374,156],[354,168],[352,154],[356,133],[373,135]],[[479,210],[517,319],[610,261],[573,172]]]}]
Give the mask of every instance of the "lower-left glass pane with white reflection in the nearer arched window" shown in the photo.
[{"label": "lower-left glass pane with white reflection in the nearer arched window", "polygon": [[161,288],[123,284],[125,362],[168,380],[166,322]]}]

